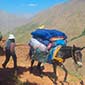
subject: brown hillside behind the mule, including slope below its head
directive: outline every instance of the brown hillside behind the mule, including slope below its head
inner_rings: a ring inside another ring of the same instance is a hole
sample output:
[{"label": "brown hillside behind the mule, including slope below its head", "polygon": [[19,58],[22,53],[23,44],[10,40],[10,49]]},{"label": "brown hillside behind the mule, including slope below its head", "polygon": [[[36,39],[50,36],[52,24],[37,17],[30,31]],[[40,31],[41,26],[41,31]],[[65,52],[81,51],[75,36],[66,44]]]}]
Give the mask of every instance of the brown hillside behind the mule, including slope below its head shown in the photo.
[{"label": "brown hillside behind the mule, including slope below its head", "polygon": [[[85,0],[70,0],[68,3],[55,5],[45,11],[40,12],[33,17],[27,25],[16,30],[17,42],[27,43],[31,37],[30,32],[37,29],[40,24],[44,24],[46,28],[58,29],[64,31],[68,35],[68,45],[85,46]],[[72,60],[69,59],[65,65],[70,73],[75,75],[79,80],[85,79],[85,50],[83,53],[83,67],[78,72]],[[72,78],[72,77],[71,77]],[[70,82],[78,82],[74,78]],[[83,80],[85,82],[85,80]],[[70,84],[69,84],[70,85]],[[84,85],[73,84],[71,85]]]}]

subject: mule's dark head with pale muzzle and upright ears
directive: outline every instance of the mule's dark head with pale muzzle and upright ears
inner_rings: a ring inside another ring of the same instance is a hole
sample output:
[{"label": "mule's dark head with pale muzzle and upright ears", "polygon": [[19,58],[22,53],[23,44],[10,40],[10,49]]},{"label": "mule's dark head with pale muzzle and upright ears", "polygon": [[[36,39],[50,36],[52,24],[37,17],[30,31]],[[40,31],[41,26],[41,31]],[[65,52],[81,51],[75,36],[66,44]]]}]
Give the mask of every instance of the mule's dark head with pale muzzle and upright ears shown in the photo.
[{"label": "mule's dark head with pale muzzle and upright ears", "polygon": [[73,59],[75,64],[78,65],[78,67],[82,67],[82,53],[81,50],[83,50],[83,48],[80,47],[75,47],[75,45],[73,45]]}]

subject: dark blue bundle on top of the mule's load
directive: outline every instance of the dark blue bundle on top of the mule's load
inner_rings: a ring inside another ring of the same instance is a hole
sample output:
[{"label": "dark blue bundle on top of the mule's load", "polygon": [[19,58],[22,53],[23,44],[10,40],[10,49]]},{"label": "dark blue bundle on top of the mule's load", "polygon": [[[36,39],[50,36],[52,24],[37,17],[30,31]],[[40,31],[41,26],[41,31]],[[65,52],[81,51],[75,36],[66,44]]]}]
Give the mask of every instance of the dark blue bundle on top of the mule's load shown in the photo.
[{"label": "dark blue bundle on top of the mule's load", "polygon": [[49,30],[49,29],[37,29],[31,33],[31,35],[36,38],[39,37],[43,40],[49,40],[52,37],[63,37],[64,39],[67,39],[67,36],[65,33],[58,31],[58,30]]}]

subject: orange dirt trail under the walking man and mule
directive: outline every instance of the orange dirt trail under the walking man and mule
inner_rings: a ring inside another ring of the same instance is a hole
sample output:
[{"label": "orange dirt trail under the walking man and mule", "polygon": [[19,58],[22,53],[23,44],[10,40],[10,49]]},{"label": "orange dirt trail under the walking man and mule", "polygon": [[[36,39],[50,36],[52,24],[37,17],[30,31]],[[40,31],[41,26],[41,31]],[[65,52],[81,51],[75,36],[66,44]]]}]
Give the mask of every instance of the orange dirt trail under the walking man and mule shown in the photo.
[{"label": "orange dirt trail under the walking man and mule", "polygon": [[[28,82],[26,85],[53,85],[51,80],[51,75],[53,74],[52,65],[45,64],[43,78],[39,76],[36,66],[34,66],[33,72],[30,74],[30,60],[27,59],[28,47],[25,45],[17,46],[17,61],[18,61],[18,78],[22,82]],[[0,56],[0,85],[14,85],[14,83],[7,83],[6,79],[8,76],[11,76],[13,73],[13,61],[10,59],[10,62],[7,65],[7,69],[2,68],[2,63],[5,59],[5,56]],[[35,65],[37,62],[35,62]],[[67,83],[63,82],[64,72],[58,68],[58,81],[57,85],[84,85],[85,79],[83,81],[77,79],[75,76],[68,75]],[[49,77],[50,76],[50,77]],[[9,79],[10,81],[10,79]],[[12,81],[13,82],[13,81]]]}]

